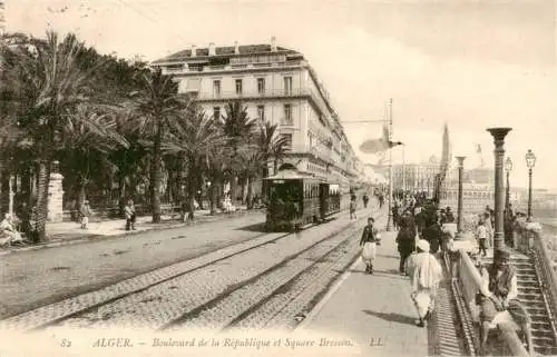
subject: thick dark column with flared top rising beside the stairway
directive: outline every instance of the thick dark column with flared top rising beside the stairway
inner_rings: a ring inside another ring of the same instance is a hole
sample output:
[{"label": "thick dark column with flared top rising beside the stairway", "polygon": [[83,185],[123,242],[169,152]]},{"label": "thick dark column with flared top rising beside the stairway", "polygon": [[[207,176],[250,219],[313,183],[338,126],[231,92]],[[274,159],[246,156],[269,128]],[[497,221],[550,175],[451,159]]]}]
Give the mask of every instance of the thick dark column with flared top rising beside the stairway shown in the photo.
[{"label": "thick dark column with flared top rising beside the stairway", "polygon": [[[505,157],[505,137],[512,130],[511,128],[490,128],[487,129],[494,137],[495,143],[495,234],[494,252],[505,247],[504,215],[505,192],[502,182],[502,158]],[[497,259],[497,257],[494,257]]]}]

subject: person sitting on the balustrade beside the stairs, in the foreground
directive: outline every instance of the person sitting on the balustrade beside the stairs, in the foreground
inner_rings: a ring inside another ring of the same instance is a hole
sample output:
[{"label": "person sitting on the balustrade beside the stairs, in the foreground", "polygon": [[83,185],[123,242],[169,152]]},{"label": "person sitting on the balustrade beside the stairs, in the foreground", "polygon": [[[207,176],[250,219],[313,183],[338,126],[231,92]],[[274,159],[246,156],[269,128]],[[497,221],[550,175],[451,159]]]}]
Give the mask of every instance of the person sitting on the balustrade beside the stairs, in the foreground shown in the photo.
[{"label": "person sitting on the balustrade beside the stairs, in the foreground", "polygon": [[499,249],[494,264],[481,267],[482,286],[478,296],[480,305],[480,354],[486,354],[488,334],[501,323],[510,323],[521,330],[531,350],[531,319],[526,307],[518,301],[517,275],[509,265],[510,252]]}]

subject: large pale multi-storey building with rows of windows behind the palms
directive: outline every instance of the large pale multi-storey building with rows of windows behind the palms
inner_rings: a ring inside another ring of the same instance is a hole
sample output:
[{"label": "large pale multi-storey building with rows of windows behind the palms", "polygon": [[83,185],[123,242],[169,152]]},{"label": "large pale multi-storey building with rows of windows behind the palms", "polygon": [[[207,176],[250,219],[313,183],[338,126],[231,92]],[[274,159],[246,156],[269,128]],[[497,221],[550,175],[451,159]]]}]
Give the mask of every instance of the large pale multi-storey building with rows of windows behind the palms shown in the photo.
[{"label": "large pale multi-storey building with rows of windows behind the palms", "polygon": [[219,118],[241,100],[251,118],[278,125],[290,142],[284,162],[316,177],[356,185],[363,165],[355,157],[329,93],[304,56],[270,44],[192,47],[152,62],[179,81],[205,112]]}]

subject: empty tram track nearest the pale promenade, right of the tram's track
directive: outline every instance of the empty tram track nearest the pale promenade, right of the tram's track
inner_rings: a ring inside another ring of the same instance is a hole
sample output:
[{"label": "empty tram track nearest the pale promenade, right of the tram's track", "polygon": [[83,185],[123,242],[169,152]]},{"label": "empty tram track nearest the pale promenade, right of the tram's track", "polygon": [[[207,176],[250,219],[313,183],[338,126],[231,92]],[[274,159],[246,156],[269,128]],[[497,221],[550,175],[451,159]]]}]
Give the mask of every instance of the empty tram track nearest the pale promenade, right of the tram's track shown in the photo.
[{"label": "empty tram track nearest the pale promenade, right of the tram's track", "polygon": [[[316,304],[315,298],[322,296],[358,258],[354,248],[359,244],[360,230],[361,227],[323,238],[234,291],[219,296],[218,300],[199,307],[195,314],[184,316],[169,329],[204,327],[227,331],[238,328],[295,327],[300,323],[295,315],[307,313]],[[335,267],[338,269],[333,269]],[[274,275],[280,278],[276,279]],[[273,286],[265,280],[278,282]]]}]

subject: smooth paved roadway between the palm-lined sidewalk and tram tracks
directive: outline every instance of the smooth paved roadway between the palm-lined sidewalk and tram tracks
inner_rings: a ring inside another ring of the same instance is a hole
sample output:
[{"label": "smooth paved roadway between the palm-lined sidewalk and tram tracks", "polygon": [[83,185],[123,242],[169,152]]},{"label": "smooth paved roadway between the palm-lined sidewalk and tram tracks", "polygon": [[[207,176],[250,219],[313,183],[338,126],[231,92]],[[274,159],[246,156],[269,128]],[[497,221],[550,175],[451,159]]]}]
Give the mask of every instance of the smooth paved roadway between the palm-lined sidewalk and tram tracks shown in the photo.
[{"label": "smooth paved roadway between the palm-lined sidewalk and tram tracks", "polygon": [[[264,214],[3,256],[0,318],[262,235]],[[260,230],[257,230],[260,229]]]}]

